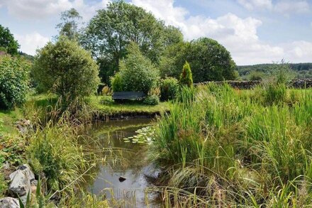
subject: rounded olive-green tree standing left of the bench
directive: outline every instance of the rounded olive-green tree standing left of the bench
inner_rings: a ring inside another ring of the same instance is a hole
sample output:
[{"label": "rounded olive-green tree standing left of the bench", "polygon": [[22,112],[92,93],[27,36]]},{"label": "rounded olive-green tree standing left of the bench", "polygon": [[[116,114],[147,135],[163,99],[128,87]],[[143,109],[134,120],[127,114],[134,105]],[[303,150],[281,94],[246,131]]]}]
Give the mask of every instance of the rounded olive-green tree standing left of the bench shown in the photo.
[{"label": "rounded olive-green tree standing left of the bench", "polygon": [[69,100],[89,96],[99,85],[99,67],[91,54],[65,36],[38,51],[33,75],[42,89]]}]

